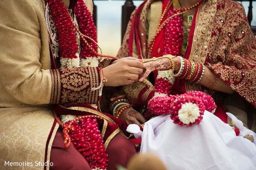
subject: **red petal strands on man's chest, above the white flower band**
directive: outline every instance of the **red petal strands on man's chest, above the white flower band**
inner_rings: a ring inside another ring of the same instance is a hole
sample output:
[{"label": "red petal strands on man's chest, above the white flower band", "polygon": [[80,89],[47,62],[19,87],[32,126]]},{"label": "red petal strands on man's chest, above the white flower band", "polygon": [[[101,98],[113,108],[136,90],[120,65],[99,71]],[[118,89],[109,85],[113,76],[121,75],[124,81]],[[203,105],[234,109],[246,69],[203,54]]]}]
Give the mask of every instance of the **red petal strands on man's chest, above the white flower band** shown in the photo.
[{"label": "red petal strands on man's chest, above the white flower band", "polygon": [[[78,52],[76,30],[72,23],[69,11],[67,11],[65,4],[62,0],[49,0],[49,9],[52,14],[52,20],[55,23],[58,31],[58,39],[60,43],[60,57],[63,58],[78,58],[75,54]],[[75,6],[75,15],[77,16],[78,25],[81,32],[91,37],[97,42],[97,32],[92,16],[83,0],[78,0]],[[96,57],[95,54],[89,50],[89,47],[81,41],[81,58]],[[95,43],[88,40],[89,45],[98,51]]]}]

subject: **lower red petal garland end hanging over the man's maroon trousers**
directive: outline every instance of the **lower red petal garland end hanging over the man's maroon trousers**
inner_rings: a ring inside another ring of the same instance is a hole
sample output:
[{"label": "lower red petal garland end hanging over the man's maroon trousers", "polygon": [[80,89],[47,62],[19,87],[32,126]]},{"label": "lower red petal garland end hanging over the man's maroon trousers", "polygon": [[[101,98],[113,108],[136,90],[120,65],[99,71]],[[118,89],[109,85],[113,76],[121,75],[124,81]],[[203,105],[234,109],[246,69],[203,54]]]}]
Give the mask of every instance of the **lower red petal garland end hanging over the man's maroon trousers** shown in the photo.
[{"label": "lower red petal garland end hanging over the man's maroon trousers", "polygon": [[82,118],[78,122],[69,121],[66,125],[74,128],[74,130],[69,131],[71,141],[89,163],[91,169],[106,169],[107,154],[97,120],[95,118]]}]

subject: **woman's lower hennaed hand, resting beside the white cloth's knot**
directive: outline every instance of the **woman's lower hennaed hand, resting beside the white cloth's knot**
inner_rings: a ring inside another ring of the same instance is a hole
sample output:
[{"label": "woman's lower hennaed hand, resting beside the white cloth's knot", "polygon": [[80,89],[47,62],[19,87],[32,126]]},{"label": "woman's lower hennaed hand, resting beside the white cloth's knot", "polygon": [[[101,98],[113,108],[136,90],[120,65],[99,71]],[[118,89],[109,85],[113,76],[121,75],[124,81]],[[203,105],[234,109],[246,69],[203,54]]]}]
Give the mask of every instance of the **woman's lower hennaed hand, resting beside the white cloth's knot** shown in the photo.
[{"label": "woman's lower hennaed hand, resting beside the white cloth's knot", "polygon": [[146,122],[146,119],[142,116],[141,113],[135,111],[132,107],[125,109],[120,115],[119,118],[123,119],[127,122],[128,125],[130,124],[143,124]]}]

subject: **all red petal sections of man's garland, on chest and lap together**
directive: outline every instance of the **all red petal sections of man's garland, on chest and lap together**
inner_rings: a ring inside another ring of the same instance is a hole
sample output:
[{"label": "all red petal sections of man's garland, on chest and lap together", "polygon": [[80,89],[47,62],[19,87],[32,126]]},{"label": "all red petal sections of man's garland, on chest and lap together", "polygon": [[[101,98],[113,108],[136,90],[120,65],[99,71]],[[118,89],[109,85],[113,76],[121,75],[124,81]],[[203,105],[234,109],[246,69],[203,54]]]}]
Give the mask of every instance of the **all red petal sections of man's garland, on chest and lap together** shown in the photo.
[{"label": "all red petal sections of man's garland, on chest and lap together", "polygon": [[[65,4],[62,0],[49,0],[48,4],[52,14],[52,20],[58,31],[60,57],[78,58],[75,55],[78,53],[76,30]],[[81,33],[97,42],[96,28],[92,21],[91,13],[85,6],[83,0],[78,0],[75,8],[75,15],[77,16]],[[81,43],[82,59],[96,57],[95,53],[89,50],[89,47],[83,41]],[[94,42],[88,40],[88,43],[91,48],[98,51],[98,46]],[[91,168],[106,169],[107,154],[103,140],[101,139],[100,130],[98,130],[97,120],[86,117],[81,117],[78,120],[66,122],[66,125],[63,124],[63,127],[65,127],[63,133],[66,131],[69,132],[65,136],[72,141],[75,148],[83,155]],[[69,146],[69,142],[65,143],[66,147]]]}]

